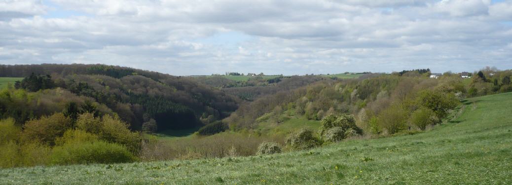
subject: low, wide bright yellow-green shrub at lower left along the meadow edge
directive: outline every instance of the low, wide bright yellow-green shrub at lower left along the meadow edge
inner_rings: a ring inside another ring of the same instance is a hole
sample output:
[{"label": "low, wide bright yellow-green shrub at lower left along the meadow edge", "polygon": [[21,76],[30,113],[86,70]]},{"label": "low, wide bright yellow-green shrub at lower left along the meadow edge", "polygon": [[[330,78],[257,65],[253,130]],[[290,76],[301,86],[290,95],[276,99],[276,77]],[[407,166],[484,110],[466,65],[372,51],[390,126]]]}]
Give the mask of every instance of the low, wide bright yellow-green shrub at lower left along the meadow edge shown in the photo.
[{"label": "low, wide bright yellow-green shrub at lower left along the meadow edge", "polygon": [[68,142],[55,147],[50,158],[53,165],[119,163],[136,160],[124,146],[104,141]]}]

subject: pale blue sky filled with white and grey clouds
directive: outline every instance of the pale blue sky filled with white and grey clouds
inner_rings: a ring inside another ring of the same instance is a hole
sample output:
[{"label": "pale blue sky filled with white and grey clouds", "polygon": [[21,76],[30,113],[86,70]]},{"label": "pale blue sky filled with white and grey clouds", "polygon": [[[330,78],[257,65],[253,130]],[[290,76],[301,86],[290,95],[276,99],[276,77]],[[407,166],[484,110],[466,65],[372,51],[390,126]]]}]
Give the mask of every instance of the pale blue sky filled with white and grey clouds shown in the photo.
[{"label": "pale blue sky filled with white and grey clouds", "polygon": [[172,75],[512,69],[512,0],[0,0],[0,64]]}]

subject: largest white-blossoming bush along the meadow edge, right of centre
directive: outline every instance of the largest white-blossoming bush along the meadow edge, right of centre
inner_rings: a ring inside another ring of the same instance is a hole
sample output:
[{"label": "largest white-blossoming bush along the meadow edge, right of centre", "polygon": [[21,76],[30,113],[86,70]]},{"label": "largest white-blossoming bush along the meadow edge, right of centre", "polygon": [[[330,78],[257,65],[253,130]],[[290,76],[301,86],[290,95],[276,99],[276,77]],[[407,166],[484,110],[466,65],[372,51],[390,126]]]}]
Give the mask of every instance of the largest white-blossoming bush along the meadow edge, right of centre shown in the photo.
[{"label": "largest white-blossoming bush along the meadow edge, right of centre", "polygon": [[319,130],[319,135],[326,141],[335,142],[347,138],[349,136],[346,134],[348,130],[352,130],[350,132],[351,135],[362,134],[362,130],[355,125],[355,118],[353,115],[330,114],[322,119],[322,126]]}]

